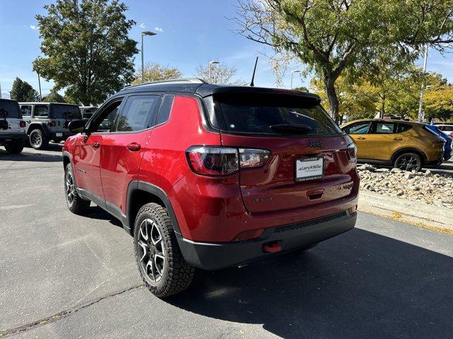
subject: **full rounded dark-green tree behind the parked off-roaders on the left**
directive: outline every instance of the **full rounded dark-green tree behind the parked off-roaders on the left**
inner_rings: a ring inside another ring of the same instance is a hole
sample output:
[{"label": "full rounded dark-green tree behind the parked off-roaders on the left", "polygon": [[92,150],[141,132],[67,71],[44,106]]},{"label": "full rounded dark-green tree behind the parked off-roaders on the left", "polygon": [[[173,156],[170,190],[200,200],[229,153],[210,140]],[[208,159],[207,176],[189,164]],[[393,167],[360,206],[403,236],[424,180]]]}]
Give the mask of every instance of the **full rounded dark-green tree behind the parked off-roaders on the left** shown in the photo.
[{"label": "full rounded dark-green tree behind the parked off-roaders on the left", "polygon": [[118,0],[57,0],[37,15],[41,52],[33,62],[55,90],[85,105],[103,102],[134,79],[137,42],[127,33],[127,6]]}]

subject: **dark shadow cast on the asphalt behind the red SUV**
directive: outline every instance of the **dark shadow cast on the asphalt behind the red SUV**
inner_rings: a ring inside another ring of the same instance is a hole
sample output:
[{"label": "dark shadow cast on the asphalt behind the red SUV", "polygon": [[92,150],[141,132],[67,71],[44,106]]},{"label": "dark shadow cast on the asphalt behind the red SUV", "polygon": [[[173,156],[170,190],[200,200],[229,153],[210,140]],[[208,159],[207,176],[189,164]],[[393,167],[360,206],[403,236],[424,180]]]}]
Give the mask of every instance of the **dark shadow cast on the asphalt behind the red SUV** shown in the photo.
[{"label": "dark shadow cast on the asphalt behind the red SUV", "polygon": [[166,301],[282,338],[447,338],[452,267],[449,256],[355,229],[305,253],[198,271]]}]

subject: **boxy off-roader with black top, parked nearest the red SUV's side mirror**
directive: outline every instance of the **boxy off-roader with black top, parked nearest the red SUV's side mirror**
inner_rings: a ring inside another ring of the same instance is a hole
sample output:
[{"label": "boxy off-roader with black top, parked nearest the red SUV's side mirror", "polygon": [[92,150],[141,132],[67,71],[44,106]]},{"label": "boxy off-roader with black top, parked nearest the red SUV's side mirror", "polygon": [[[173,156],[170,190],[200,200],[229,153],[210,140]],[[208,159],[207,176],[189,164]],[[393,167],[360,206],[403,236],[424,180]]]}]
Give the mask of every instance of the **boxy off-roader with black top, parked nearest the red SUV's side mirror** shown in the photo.
[{"label": "boxy off-roader with black top, parked nearest the red SUV's side mirror", "polygon": [[59,143],[74,135],[68,129],[69,121],[81,119],[79,106],[55,102],[20,102],[25,131],[31,147],[46,148],[49,141]]}]

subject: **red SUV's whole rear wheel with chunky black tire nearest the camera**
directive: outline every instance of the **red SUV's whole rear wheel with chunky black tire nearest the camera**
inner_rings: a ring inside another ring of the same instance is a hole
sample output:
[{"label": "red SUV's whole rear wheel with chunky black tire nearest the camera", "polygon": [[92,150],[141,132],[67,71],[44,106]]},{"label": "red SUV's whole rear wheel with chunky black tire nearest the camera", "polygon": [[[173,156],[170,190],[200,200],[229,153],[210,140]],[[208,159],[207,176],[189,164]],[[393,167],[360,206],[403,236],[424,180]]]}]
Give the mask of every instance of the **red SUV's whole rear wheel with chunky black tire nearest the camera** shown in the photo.
[{"label": "red SUV's whole rear wheel with chunky black tire nearest the camera", "polygon": [[167,210],[157,203],[137,213],[134,252],[144,285],[156,297],[176,295],[192,283],[195,268],[184,260]]}]

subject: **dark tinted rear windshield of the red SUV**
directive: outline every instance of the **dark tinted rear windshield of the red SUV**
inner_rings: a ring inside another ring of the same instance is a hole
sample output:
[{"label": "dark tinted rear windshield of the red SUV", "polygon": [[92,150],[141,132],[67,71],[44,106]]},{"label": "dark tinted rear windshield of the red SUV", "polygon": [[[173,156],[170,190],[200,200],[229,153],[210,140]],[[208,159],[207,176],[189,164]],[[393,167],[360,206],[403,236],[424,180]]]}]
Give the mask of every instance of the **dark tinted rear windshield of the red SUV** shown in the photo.
[{"label": "dark tinted rear windshield of the red SUV", "polygon": [[[249,93],[214,97],[214,103],[222,115],[223,129],[233,133],[306,136],[342,133],[326,111],[311,98]],[[299,129],[287,128],[290,126]]]}]

